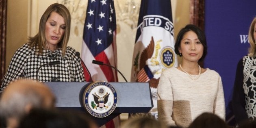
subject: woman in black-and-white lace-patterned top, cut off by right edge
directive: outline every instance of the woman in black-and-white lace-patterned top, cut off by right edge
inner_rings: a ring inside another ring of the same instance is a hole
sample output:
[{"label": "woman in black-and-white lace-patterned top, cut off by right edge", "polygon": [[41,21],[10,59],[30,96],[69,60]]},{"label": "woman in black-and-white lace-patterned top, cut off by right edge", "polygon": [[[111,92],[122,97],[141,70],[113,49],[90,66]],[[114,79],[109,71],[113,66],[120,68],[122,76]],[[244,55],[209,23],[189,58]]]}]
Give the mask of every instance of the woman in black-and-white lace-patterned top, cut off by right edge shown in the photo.
[{"label": "woman in black-and-white lace-patterned top, cut off by right edge", "polygon": [[232,98],[236,122],[241,125],[248,119],[256,119],[256,17],[248,34],[249,53],[237,64]]}]

